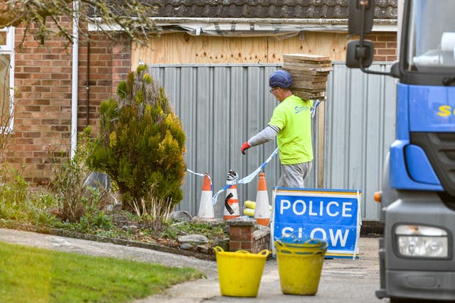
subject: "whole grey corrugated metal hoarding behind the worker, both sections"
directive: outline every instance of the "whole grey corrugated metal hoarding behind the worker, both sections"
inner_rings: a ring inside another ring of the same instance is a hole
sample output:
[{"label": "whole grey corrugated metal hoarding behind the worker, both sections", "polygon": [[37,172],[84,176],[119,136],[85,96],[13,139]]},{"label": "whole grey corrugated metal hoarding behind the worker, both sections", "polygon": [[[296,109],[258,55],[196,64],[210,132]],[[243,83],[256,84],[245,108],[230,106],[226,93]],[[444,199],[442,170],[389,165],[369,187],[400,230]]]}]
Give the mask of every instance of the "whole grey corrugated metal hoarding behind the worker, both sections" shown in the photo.
[{"label": "whole grey corrugated metal hoarding behind the worker, both sections", "polygon": [[[323,113],[314,116],[315,159],[305,185],[316,188],[319,182],[323,188],[361,189],[363,219],[378,220],[378,205],[372,197],[380,187],[382,161],[395,134],[395,82],[390,77],[349,70],[343,63],[333,67],[327,98],[320,108]],[[245,177],[277,148],[270,141],[250,148],[247,155],[240,153],[242,143],[267,126],[277,105],[268,87],[269,74],[277,68],[260,64],[149,67],[183,123],[188,169],[209,172],[214,193],[225,186],[229,170]],[[321,114],[324,132],[318,138]],[[264,172],[271,199],[280,175],[278,157]],[[198,214],[202,183],[203,177],[187,173],[177,209]],[[256,189],[257,177],[249,184],[237,184],[240,208],[245,200],[256,199]],[[218,218],[223,216],[224,199],[225,193],[220,194],[214,207]]]}]

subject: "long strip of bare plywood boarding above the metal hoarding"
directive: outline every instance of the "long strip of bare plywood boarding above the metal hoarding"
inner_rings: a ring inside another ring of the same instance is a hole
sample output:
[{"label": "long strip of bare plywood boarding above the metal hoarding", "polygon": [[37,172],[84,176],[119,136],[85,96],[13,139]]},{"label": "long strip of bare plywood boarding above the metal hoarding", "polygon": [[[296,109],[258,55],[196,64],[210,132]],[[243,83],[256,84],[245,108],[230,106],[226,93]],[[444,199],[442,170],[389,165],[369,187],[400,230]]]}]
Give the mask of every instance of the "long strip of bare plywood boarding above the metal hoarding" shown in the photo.
[{"label": "long strip of bare plywood boarding above the metal hoarding", "polygon": [[[193,36],[166,33],[148,46],[132,45],[132,69],[139,60],[148,64],[283,63],[284,54],[324,55],[345,60],[346,34],[307,32],[279,40],[274,37]],[[322,61],[319,63],[325,63]]]}]

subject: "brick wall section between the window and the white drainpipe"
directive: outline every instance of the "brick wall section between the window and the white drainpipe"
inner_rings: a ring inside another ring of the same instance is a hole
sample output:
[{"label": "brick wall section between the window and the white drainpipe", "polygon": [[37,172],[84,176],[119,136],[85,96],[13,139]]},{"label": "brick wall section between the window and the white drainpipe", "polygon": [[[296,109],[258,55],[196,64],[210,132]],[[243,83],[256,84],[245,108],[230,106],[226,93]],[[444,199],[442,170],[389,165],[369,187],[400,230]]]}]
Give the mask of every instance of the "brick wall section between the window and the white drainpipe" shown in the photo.
[{"label": "brick wall section between the window and the white drainpipe", "polygon": [[[70,26],[68,19],[59,23]],[[50,38],[45,46],[28,36],[22,47],[23,28],[16,28],[14,111],[14,158],[26,165],[27,180],[47,180],[49,145],[69,146],[71,125],[71,48],[61,38]]]}]

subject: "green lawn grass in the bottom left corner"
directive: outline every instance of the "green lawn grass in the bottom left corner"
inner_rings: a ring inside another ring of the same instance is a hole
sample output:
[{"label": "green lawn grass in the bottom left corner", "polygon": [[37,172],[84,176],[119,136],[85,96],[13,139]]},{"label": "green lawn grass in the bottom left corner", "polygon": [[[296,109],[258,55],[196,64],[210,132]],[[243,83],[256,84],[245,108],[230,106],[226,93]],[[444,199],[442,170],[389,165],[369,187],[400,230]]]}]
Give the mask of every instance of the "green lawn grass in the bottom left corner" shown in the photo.
[{"label": "green lawn grass in the bottom left corner", "polygon": [[0,242],[0,302],[130,302],[202,277],[192,268]]}]

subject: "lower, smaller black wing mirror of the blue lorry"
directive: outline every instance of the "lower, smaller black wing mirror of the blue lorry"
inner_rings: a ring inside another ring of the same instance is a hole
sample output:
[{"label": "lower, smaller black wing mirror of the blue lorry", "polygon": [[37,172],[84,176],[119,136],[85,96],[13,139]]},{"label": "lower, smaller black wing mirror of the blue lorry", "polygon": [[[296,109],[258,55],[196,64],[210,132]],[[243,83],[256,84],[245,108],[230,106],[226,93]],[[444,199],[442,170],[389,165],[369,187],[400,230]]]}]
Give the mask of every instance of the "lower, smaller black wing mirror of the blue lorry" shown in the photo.
[{"label": "lower, smaller black wing mirror of the blue lorry", "polygon": [[373,42],[370,40],[352,40],[348,42],[346,48],[346,65],[349,68],[366,68],[372,62]]}]

